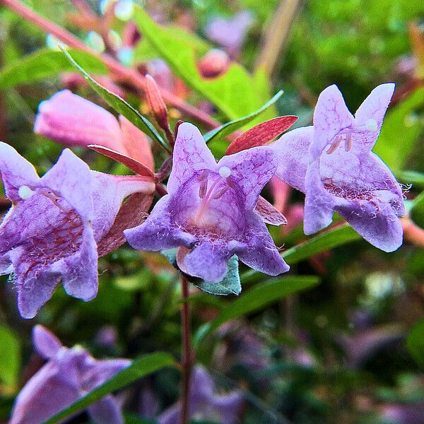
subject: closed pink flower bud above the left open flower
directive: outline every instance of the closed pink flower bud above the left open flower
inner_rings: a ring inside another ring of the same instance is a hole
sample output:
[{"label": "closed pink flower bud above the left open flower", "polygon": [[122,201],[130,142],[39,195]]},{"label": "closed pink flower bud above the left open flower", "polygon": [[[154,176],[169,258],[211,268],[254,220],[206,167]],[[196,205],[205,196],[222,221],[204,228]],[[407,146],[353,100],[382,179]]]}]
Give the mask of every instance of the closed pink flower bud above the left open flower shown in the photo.
[{"label": "closed pink flower bud above the left open flower", "polygon": [[65,146],[99,144],[124,151],[117,119],[69,90],[61,90],[40,103],[34,131]]}]

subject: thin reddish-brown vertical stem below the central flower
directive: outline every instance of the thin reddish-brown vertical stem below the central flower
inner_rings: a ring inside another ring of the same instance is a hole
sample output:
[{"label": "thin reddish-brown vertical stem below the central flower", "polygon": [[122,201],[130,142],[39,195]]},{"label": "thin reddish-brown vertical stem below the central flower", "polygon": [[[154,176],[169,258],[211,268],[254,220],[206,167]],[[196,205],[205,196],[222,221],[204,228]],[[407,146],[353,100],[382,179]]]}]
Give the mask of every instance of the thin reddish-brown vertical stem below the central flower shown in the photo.
[{"label": "thin reddish-brown vertical stem below the central flower", "polygon": [[192,330],[190,323],[189,282],[181,278],[181,322],[182,322],[182,379],[181,379],[181,420],[180,424],[189,422],[190,377],[192,375]]}]

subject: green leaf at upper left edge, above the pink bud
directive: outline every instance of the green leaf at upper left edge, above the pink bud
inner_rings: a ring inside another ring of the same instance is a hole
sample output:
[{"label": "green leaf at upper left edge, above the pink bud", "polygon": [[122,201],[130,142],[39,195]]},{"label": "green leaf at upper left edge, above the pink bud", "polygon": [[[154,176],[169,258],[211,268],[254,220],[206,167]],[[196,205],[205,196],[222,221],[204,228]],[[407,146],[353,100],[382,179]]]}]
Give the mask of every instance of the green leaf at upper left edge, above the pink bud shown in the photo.
[{"label": "green leaf at upper left edge, above the pink bud", "polygon": [[[69,50],[69,53],[84,69],[95,75],[107,73],[107,67],[98,57],[82,50]],[[13,88],[19,84],[52,78],[62,72],[73,72],[74,68],[62,52],[42,49],[13,61],[0,71],[0,88]]]}]

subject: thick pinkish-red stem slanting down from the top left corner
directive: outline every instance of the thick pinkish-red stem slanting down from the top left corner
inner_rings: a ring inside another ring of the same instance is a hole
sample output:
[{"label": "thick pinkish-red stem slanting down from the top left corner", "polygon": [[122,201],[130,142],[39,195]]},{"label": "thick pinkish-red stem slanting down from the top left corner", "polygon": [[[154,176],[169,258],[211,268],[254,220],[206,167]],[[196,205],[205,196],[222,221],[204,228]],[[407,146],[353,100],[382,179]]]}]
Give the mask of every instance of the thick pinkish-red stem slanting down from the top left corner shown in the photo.
[{"label": "thick pinkish-red stem slanting down from the top left corner", "polygon": [[[109,54],[100,54],[95,50],[90,49],[90,47],[85,45],[81,40],[78,40],[78,38],[69,33],[69,31],[61,28],[55,23],[52,23],[50,20],[43,18],[32,9],[21,4],[18,0],[0,0],[0,4],[3,4],[18,13],[18,15],[22,16],[22,18],[37,25],[37,27],[45,31],[45,33],[54,35],[54,37],[57,37],[58,40],[61,40],[61,42],[64,42],[69,47],[72,47],[73,49],[81,49],[98,57],[109,68],[109,70],[114,73],[115,76],[119,77],[121,80],[131,83],[131,85],[137,90],[144,92],[146,78],[135,69],[126,68],[120,64],[119,61],[110,57]],[[189,105],[170,91],[160,88],[160,93],[162,94],[163,100],[165,100],[168,105],[175,107],[187,116],[203,123],[208,128],[213,129],[220,126],[220,123],[213,119],[209,114]]]}]

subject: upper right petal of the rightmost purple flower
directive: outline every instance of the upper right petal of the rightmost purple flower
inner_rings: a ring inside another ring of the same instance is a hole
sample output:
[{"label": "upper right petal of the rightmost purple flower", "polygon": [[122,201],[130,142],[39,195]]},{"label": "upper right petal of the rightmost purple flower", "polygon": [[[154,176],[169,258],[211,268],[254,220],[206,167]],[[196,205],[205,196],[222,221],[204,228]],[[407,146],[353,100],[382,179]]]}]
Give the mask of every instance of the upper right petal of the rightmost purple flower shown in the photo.
[{"label": "upper right petal of the rightmost purple flower", "polygon": [[356,111],[355,125],[358,128],[369,125],[371,119],[372,125],[375,124],[375,129],[353,134],[352,145],[357,151],[367,152],[375,145],[393,93],[394,83],[381,84],[372,90]]}]

